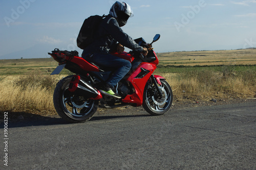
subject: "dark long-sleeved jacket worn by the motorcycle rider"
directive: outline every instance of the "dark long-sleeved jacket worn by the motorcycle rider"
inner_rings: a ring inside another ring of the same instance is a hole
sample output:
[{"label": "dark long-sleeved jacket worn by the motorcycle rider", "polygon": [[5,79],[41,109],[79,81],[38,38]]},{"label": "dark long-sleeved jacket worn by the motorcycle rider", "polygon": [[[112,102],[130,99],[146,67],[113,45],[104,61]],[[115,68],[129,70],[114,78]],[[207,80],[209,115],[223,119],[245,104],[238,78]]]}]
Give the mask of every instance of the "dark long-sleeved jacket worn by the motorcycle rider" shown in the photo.
[{"label": "dark long-sleeved jacket worn by the motorcycle rider", "polygon": [[96,35],[94,42],[83,50],[82,55],[115,52],[117,43],[132,50],[143,51],[143,47],[137,44],[129,35],[125,34],[119,27],[117,20],[110,15],[103,18]]}]

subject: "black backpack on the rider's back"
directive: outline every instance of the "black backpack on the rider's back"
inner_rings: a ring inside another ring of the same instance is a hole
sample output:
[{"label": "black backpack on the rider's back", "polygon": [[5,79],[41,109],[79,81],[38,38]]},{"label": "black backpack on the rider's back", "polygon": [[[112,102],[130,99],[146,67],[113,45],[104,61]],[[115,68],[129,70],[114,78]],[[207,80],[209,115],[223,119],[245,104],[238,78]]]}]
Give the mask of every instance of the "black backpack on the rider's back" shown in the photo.
[{"label": "black backpack on the rider's back", "polygon": [[82,27],[76,39],[76,43],[79,48],[84,50],[94,41],[95,32],[98,30],[99,24],[104,17],[105,15],[94,15],[83,21]]}]

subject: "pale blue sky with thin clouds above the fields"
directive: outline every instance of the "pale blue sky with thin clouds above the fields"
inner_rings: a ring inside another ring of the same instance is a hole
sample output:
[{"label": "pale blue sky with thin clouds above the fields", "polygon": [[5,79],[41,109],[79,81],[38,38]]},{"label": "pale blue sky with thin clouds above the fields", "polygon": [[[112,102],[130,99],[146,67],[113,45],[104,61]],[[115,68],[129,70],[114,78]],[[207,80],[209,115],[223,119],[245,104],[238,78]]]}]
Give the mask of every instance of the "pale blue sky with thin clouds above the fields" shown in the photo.
[{"label": "pale blue sky with thin clouds above the fields", "polygon": [[[75,40],[90,15],[108,14],[113,0],[1,0],[0,59],[45,58],[55,47],[81,50]],[[122,29],[156,52],[256,47],[256,0],[127,0],[134,12]],[[126,49],[129,51],[128,49]]]}]

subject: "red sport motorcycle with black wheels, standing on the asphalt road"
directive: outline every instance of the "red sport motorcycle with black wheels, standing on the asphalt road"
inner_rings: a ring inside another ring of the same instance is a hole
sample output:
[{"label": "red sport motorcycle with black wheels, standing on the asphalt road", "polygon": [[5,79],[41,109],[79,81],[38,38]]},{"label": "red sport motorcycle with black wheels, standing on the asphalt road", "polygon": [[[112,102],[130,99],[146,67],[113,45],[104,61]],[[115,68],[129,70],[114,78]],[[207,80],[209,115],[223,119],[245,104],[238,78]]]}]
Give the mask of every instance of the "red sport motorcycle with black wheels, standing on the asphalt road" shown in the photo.
[{"label": "red sport motorcycle with black wheels, standing on the asphalt road", "polygon": [[[153,42],[159,38],[157,34]],[[167,112],[173,103],[173,92],[163,77],[153,75],[159,62],[152,48],[153,42],[148,44],[143,38],[135,41],[148,48],[146,57],[136,51],[113,54],[132,63],[131,70],[115,87],[121,99],[101,94],[98,90],[112,74],[110,68],[89,63],[78,57],[76,51],[59,51],[55,48],[48,53],[59,63],[51,75],[59,74],[64,67],[76,74],[60,80],[54,90],[53,103],[59,116],[71,123],[85,122],[93,117],[98,106],[115,108],[142,105],[152,115]]]}]

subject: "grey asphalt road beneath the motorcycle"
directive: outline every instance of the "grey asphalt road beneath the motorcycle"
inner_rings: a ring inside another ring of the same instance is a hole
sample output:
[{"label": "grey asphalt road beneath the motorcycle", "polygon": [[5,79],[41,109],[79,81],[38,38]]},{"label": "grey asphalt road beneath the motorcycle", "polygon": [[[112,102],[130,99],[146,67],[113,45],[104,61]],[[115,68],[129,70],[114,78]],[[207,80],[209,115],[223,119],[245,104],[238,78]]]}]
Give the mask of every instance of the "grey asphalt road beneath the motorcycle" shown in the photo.
[{"label": "grey asphalt road beneath the motorcycle", "polygon": [[0,169],[256,169],[255,111],[249,102],[163,116],[137,108],[83,124],[9,123],[8,167],[1,161]]}]

